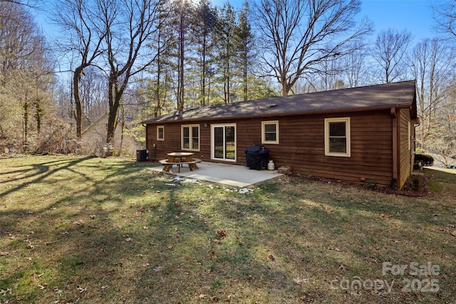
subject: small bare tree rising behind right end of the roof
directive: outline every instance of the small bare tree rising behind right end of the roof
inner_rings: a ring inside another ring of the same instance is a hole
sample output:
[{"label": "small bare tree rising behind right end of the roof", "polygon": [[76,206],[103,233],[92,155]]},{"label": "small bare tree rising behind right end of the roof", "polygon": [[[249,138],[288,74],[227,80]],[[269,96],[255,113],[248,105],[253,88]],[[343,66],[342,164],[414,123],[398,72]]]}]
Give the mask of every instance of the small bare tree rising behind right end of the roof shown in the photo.
[{"label": "small bare tree rising behind right end of the roof", "polygon": [[389,28],[377,35],[372,50],[373,59],[380,65],[376,78],[382,83],[404,80],[405,58],[412,34],[409,31],[396,31]]}]

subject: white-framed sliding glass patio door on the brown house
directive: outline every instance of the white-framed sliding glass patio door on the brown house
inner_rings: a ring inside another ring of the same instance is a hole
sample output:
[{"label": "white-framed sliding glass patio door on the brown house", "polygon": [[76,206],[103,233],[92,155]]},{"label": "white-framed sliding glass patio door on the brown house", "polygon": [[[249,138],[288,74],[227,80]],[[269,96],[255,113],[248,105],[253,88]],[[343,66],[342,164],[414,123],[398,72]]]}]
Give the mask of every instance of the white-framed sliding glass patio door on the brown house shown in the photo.
[{"label": "white-framed sliding glass patio door on the brown house", "polygon": [[212,125],[211,158],[236,162],[236,124]]}]

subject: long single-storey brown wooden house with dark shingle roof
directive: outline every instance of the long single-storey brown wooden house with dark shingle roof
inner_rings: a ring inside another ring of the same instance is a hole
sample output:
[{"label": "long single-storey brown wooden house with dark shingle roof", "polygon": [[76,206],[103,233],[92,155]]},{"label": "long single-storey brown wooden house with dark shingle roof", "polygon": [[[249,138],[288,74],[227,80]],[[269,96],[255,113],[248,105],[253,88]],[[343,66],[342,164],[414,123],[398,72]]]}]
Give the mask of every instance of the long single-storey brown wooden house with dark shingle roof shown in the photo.
[{"label": "long single-storey brown wooden house with dark shingle roof", "polygon": [[149,159],[191,151],[245,165],[244,151],[264,145],[294,174],[400,189],[413,169],[417,123],[412,80],[191,108],[143,125]]}]

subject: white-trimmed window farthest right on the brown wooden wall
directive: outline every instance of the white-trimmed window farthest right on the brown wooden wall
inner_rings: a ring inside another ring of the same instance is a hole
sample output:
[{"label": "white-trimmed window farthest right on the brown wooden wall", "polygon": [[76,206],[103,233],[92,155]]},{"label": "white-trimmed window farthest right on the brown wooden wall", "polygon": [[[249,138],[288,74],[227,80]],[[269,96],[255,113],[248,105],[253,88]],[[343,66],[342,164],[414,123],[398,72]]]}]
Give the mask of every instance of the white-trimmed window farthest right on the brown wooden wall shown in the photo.
[{"label": "white-trimmed window farthest right on the brown wooden wall", "polygon": [[325,155],[350,157],[350,117],[325,119]]}]

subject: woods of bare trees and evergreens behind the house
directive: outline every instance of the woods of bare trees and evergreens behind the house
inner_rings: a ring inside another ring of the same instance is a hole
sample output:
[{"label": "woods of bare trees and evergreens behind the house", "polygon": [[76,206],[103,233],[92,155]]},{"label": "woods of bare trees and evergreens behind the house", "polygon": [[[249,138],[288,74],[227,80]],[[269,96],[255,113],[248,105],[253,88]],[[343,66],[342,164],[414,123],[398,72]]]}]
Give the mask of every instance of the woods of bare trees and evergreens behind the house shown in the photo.
[{"label": "woods of bare trees and evergreens behind the house", "polygon": [[413,45],[403,28],[374,36],[357,0],[1,0],[0,152],[87,153],[83,132],[105,114],[113,146],[118,127],[141,142],[139,122],[175,110],[410,79],[418,144],[455,146],[450,4],[430,10],[444,38]]}]

